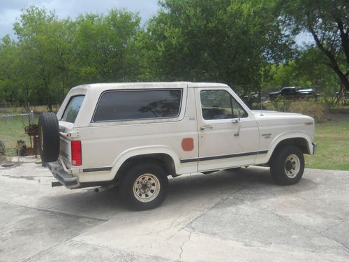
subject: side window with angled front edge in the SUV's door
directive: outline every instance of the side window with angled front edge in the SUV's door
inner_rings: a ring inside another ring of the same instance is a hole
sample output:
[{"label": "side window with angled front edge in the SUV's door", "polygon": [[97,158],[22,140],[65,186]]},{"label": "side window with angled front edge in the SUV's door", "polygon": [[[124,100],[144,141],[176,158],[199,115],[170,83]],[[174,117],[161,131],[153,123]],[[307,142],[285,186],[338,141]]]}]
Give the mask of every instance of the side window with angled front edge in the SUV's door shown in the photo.
[{"label": "side window with angled front edge in the SUV's door", "polygon": [[206,120],[247,117],[247,112],[224,90],[200,92],[202,117]]}]

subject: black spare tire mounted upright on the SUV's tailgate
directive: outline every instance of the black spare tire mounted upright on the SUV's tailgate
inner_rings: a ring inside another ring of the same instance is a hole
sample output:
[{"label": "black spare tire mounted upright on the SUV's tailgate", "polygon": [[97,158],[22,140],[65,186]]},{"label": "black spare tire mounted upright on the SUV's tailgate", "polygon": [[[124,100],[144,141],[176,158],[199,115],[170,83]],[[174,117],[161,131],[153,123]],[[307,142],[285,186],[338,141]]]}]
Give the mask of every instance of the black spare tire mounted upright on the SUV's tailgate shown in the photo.
[{"label": "black spare tire mounted upright on the SUV's tailgate", "polygon": [[54,162],[59,156],[59,123],[54,112],[43,112],[38,124],[39,148],[41,160]]}]

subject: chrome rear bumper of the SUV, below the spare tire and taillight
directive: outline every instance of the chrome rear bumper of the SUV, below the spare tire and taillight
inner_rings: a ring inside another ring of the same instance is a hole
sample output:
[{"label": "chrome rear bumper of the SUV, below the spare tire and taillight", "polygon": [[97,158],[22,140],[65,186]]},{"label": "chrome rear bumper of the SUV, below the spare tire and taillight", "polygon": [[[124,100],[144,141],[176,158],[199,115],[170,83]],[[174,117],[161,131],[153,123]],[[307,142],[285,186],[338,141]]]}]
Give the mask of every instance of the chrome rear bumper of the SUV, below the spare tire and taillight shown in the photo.
[{"label": "chrome rear bumper of the SUV, below the spare tire and taillight", "polygon": [[47,168],[50,169],[52,175],[68,189],[80,187],[79,177],[69,174],[64,170],[60,161],[47,163]]}]

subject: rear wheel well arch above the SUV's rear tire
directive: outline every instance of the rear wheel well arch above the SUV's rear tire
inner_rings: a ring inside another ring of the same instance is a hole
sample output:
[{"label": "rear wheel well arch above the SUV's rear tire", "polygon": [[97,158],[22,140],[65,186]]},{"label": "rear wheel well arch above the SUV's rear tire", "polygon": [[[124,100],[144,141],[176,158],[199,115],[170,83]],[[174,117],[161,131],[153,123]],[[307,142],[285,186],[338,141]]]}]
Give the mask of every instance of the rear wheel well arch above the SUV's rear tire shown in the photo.
[{"label": "rear wheel well arch above the SUV's rear tire", "polygon": [[117,171],[116,178],[119,180],[122,175],[127,173],[127,170],[131,168],[131,166],[135,166],[138,163],[144,162],[153,162],[161,166],[167,175],[176,175],[176,168],[174,166],[174,161],[172,157],[168,154],[142,154],[135,157],[130,157],[122,165]]}]

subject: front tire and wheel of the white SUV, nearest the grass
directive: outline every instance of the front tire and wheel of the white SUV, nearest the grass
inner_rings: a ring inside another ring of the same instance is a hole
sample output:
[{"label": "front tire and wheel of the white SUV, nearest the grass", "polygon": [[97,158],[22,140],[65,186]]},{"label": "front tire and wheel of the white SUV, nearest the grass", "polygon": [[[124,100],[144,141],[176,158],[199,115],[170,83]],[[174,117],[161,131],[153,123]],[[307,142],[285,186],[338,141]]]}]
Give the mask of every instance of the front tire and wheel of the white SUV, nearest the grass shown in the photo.
[{"label": "front tire and wheel of the white SUV, nearest the grass", "polygon": [[270,165],[270,173],[276,183],[296,184],[304,173],[304,156],[295,145],[282,147],[275,152]]}]

